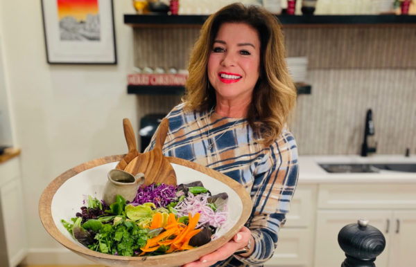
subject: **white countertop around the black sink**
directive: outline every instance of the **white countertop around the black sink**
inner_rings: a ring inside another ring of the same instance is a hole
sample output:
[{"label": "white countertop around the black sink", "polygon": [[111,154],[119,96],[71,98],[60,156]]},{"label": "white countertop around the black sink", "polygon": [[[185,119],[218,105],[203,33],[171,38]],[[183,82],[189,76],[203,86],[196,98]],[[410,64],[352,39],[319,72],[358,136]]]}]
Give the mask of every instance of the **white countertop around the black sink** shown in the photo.
[{"label": "white countertop around the black sink", "polygon": [[416,183],[416,172],[329,173],[319,163],[414,163],[416,156],[358,155],[300,156],[299,183]]}]

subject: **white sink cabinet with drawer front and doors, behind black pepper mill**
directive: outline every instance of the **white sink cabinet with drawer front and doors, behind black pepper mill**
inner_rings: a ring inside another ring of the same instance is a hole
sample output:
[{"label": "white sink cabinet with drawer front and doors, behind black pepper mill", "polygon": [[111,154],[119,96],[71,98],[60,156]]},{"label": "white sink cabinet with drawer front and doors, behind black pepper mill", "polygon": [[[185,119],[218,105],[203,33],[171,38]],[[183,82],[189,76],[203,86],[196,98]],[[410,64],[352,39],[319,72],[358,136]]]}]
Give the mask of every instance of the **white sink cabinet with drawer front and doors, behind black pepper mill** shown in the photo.
[{"label": "white sink cabinet with drawer front and doors, behind black pepper mill", "polygon": [[320,185],[314,266],[340,266],[345,255],[338,232],[359,218],[383,232],[386,246],[377,267],[414,266],[416,185]]}]

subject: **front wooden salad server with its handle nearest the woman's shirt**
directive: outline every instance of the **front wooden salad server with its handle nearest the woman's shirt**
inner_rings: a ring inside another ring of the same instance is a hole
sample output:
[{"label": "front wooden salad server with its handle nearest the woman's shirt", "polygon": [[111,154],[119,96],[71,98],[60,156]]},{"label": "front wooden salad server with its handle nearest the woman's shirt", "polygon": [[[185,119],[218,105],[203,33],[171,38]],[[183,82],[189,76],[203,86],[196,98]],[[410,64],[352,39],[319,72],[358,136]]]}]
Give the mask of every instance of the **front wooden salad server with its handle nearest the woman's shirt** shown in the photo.
[{"label": "front wooden salad server with its handle nearest the woman's shirt", "polygon": [[144,185],[150,185],[151,183],[176,185],[175,170],[162,154],[162,147],[168,134],[168,129],[169,121],[167,118],[164,118],[156,132],[155,147],[146,153],[139,154],[124,169],[125,172],[130,172],[133,175],[143,172]]}]

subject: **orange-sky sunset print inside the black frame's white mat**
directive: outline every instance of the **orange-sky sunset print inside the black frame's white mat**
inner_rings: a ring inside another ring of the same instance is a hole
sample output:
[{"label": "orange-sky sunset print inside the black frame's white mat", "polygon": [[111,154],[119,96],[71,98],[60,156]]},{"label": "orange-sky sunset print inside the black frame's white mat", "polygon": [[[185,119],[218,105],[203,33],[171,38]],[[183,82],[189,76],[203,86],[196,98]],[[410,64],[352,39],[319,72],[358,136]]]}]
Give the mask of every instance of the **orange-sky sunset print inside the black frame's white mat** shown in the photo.
[{"label": "orange-sky sunset print inside the black frame's white mat", "polygon": [[99,41],[98,0],[56,0],[62,41]]}]

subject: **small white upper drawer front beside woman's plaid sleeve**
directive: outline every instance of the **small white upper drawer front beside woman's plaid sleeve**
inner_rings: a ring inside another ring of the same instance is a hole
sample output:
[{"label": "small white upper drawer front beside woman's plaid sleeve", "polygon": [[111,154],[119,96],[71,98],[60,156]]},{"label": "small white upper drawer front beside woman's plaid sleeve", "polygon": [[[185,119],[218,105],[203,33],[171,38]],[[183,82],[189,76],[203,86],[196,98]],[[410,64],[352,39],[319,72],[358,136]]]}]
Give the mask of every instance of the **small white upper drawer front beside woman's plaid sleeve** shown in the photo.
[{"label": "small white upper drawer front beside woman's plaid sleeve", "polygon": [[315,221],[316,185],[298,185],[291,201],[291,211],[286,214],[284,228],[309,227]]}]

